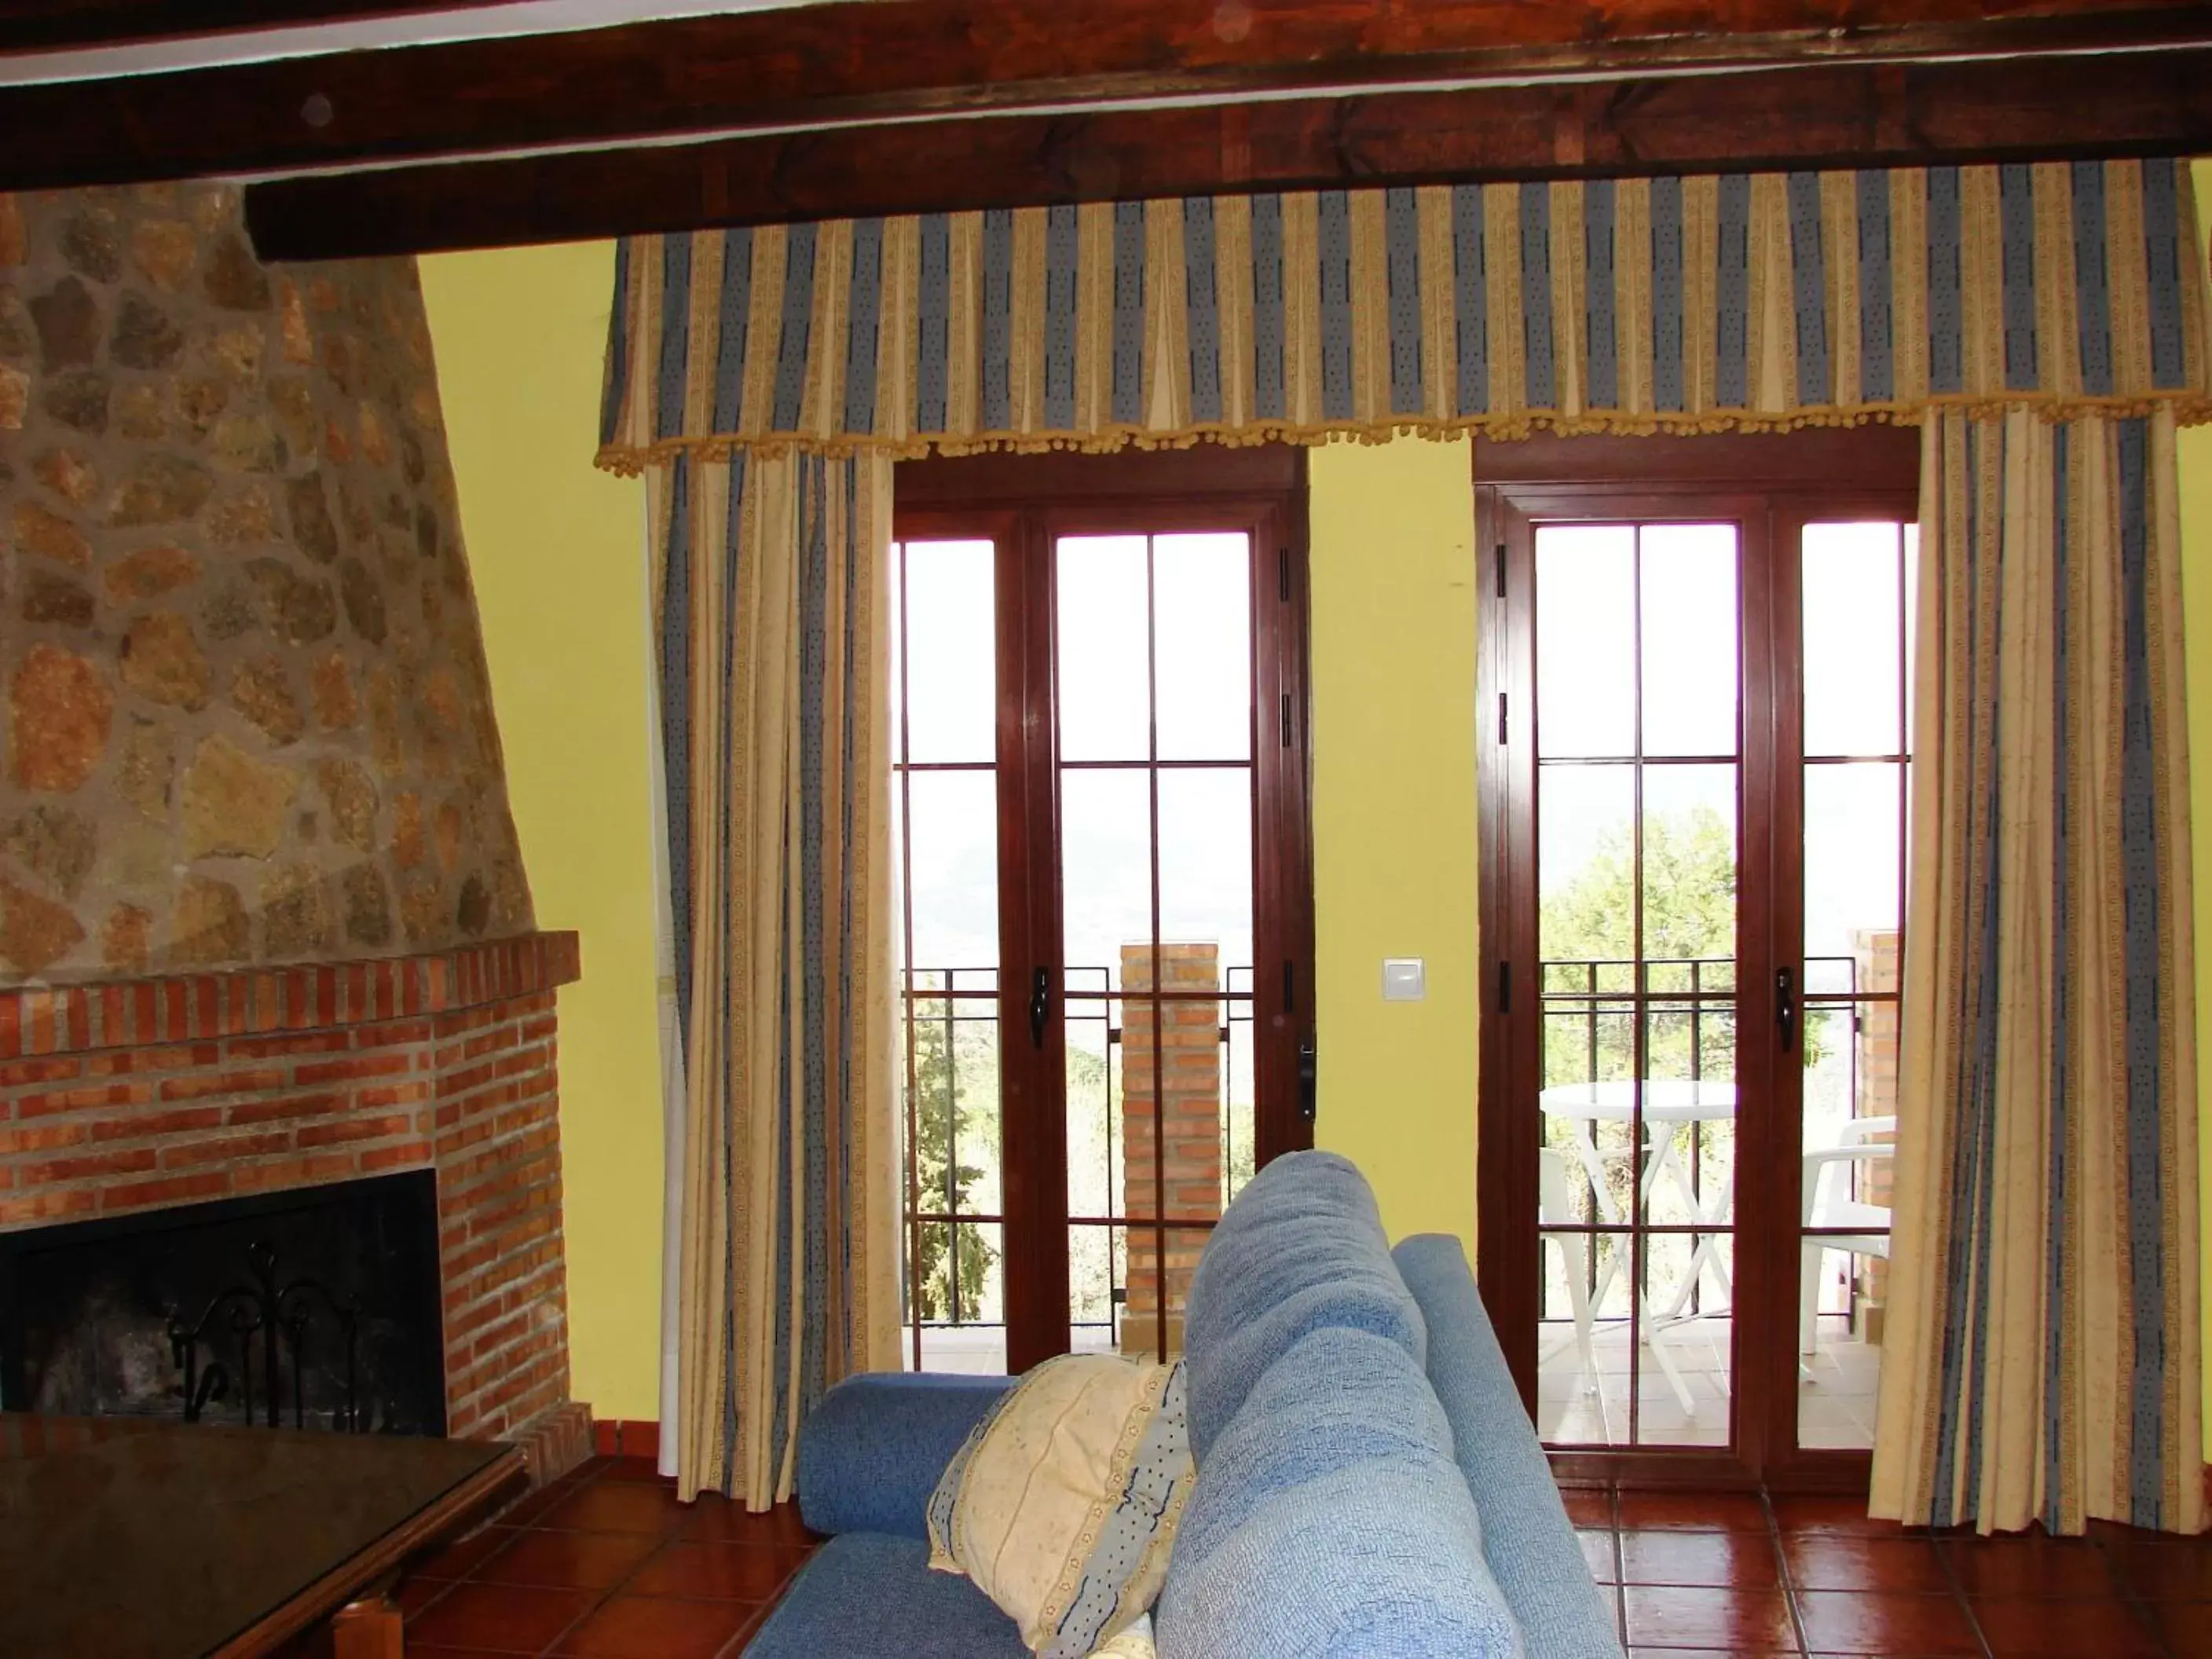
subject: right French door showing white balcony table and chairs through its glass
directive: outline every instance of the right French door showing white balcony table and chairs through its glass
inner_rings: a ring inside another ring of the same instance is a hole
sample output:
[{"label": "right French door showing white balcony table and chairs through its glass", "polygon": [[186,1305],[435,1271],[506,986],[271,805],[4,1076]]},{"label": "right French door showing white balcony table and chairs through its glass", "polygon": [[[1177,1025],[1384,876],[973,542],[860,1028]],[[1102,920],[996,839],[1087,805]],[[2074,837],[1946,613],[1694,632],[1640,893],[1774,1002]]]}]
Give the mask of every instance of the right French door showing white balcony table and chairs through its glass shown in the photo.
[{"label": "right French door showing white balcony table and chairs through its glass", "polygon": [[1911,434],[1482,445],[1482,1290],[1610,1475],[1865,1480]]}]

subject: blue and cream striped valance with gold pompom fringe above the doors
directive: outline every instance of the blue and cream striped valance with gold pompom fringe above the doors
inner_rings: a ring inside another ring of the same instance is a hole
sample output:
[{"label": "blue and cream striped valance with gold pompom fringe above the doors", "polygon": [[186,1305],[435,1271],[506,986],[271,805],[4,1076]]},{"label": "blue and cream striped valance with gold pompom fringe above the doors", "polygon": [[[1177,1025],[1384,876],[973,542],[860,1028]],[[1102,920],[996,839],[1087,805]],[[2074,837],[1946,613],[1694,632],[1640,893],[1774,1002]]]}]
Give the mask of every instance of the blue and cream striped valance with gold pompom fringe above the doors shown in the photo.
[{"label": "blue and cream striped valance with gold pompom fringe above the doors", "polygon": [[2181,161],[1190,197],[622,243],[602,465],[2212,418]]}]

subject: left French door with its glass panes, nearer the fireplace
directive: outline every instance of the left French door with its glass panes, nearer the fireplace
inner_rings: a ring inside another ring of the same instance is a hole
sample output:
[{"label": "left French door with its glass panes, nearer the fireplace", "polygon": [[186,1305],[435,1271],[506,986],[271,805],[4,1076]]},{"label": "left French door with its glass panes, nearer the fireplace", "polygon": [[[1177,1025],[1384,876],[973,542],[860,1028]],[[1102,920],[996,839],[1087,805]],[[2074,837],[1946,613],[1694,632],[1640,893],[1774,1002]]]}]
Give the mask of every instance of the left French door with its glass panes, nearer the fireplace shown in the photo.
[{"label": "left French door with its glass panes, nearer the fireplace", "polygon": [[896,500],[907,1363],[1172,1354],[1214,1219],[1312,1144],[1301,458]]}]

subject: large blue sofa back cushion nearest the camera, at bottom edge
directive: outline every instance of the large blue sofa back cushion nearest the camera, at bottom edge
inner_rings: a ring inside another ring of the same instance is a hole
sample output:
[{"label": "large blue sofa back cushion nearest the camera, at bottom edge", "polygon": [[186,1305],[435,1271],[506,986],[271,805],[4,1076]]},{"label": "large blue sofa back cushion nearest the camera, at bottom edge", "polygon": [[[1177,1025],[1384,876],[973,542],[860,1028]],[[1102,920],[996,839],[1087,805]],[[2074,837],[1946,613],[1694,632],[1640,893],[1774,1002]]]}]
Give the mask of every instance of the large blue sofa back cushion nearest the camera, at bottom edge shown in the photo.
[{"label": "large blue sofa back cushion nearest the camera, at bottom edge", "polygon": [[1398,1340],[1338,1327],[1199,1464],[1155,1617],[1161,1659],[1522,1652],[1436,1394]]}]

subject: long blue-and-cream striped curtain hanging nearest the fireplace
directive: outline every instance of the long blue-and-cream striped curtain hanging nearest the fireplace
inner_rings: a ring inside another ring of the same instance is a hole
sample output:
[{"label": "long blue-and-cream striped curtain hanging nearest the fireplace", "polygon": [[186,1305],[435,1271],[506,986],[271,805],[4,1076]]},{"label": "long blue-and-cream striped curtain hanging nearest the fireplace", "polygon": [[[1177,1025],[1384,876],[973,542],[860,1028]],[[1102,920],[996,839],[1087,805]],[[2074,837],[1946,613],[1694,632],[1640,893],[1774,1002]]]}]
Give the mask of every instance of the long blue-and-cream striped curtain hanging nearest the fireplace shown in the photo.
[{"label": "long blue-and-cream striped curtain hanging nearest the fireplace", "polygon": [[823,1389],[898,1365],[889,473],[679,458],[648,487],[686,1084],[686,1500],[781,1502]]}]

